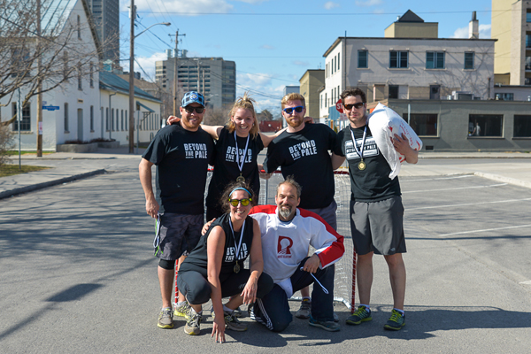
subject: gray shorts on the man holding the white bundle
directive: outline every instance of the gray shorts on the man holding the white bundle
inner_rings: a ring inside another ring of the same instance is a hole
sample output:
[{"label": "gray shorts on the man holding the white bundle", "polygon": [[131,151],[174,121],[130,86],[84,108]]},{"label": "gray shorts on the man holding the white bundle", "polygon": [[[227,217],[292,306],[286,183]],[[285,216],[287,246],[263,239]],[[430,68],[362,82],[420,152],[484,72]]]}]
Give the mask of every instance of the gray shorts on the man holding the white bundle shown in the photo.
[{"label": "gray shorts on the man holding the white bundle", "polygon": [[350,201],[350,229],[356,253],[405,253],[403,219],[401,196],[370,203]]}]

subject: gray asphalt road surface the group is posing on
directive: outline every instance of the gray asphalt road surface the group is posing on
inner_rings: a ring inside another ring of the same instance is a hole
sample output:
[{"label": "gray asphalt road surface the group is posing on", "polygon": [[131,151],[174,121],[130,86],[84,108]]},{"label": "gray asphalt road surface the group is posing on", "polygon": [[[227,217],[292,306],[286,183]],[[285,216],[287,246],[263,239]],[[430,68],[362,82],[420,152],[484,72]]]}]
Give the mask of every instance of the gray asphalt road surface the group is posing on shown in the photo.
[{"label": "gray asphalt road surface the group is posing on", "polygon": [[[484,162],[484,161],[480,161]],[[62,161],[46,162],[64,163]],[[227,343],[156,327],[153,223],[138,161],[0,200],[0,353],[217,352],[527,353],[531,348],[530,189],[472,175],[403,177],[406,326],[384,331],[391,296],[375,258],[373,321],[328,333],[294,319],[286,332],[227,331]],[[296,302],[292,309],[296,310]]]}]

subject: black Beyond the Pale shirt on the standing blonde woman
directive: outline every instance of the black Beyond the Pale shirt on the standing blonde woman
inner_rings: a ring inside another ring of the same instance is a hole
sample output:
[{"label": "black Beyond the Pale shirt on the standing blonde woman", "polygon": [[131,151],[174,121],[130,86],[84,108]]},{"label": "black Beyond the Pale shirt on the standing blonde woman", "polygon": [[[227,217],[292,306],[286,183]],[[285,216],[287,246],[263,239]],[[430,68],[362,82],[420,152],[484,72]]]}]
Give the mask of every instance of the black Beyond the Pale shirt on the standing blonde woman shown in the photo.
[{"label": "black Beyond the Pale shirt on the standing blonde woman", "polygon": [[[237,142],[238,158],[240,158],[241,165],[243,150],[245,149],[247,138],[237,136]],[[234,132],[229,133],[226,127],[221,129],[215,149],[216,160],[214,165],[214,173],[212,173],[212,180],[208,186],[206,206],[218,209],[220,212],[224,212],[223,208],[221,208],[219,205],[221,194],[230,182],[236,181],[236,178],[240,176],[240,169],[236,163],[236,144]],[[262,142],[260,135],[257,135],[255,139],[249,135],[249,144],[247,146],[247,153],[245,154],[245,162],[243,163],[242,176],[245,178],[245,181],[250,183],[250,187],[253,189],[257,198],[260,195],[260,180],[257,158],[258,153],[261,150],[264,150],[264,143]]]}]

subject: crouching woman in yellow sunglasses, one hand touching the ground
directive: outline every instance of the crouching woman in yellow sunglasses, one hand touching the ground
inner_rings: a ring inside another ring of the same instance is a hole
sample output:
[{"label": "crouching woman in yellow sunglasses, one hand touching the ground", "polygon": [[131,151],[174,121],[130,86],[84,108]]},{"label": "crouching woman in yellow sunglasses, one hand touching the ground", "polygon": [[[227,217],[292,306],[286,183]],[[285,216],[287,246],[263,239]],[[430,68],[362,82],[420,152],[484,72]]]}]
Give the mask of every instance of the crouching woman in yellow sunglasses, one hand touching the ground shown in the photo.
[{"label": "crouching woman in yellow sunglasses, one hand touching the ground", "polygon": [[[184,331],[198,335],[201,304],[212,298],[214,323],[212,336],[225,342],[225,326],[245,331],[247,326],[235,318],[233,311],[241,304],[254,303],[273,288],[273,280],[264,269],[260,228],[249,212],[252,189],[244,182],[227,187],[222,200],[227,213],[216,219],[189,257],[181,264],[177,284],[192,309]],[[243,262],[250,256],[250,269]],[[222,297],[233,296],[223,305]],[[221,315],[223,314],[223,315]]]}]

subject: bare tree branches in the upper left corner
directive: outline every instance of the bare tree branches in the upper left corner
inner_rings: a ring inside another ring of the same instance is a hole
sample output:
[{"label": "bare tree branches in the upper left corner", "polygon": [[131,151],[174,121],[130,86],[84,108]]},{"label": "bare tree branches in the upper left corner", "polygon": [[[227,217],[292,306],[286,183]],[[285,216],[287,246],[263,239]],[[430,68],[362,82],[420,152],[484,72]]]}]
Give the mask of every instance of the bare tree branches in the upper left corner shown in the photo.
[{"label": "bare tree branches in the upper left corner", "polygon": [[[65,15],[65,9],[59,12],[51,8],[58,7],[58,2],[0,0],[0,99],[7,97],[10,104],[21,89],[25,106],[32,96],[57,89],[65,81],[92,78],[99,70],[102,43],[97,39],[86,2],[82,5],[89,18],[85,25],[79,15]],[[42,13],[41,35],[35,16],[37,6]],[[96,46],[94,42],[81,41],[81,32],[87,27]],[[1,124],[8,125],[15,118]]]}]

